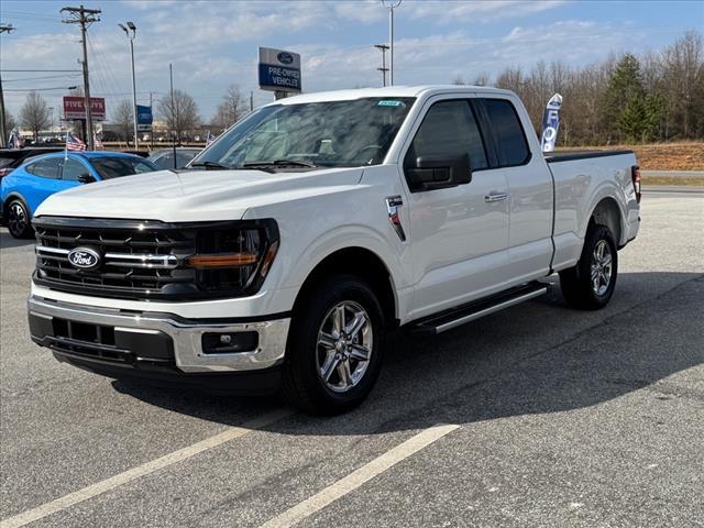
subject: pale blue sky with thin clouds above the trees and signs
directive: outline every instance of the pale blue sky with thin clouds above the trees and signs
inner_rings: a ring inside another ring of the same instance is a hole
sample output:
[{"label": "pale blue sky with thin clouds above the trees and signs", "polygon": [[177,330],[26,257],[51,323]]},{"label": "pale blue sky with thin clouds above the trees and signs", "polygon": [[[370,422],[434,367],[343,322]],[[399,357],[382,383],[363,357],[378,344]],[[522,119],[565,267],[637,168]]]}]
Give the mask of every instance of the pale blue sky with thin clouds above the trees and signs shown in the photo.
[{"label": "pale blue sky with thin clouds above the trees and signs", "polygon": [[[78,28],[63,24],[59,10],[80,2],[2,0],[2,69],[78,69]],[[138,25],[138,99],[168,90],[168,64],[177,88],[194,96],[205,119],[237,84],[256,105],[273,99],[256,87],[256,48],[301,54],[305,91],[378,86],[381,53],[388,37],[387,10],[375,0],[324,1],[88,1],[102,10],[89,29],[91,92],[106,97],[108,113],[131,98],[129,43],[118,23]],[[395,81],[449,84],[504,67],[526,69],[538,61],[571,66],[609,53],[659,50],[689,29],[704,29],[704,1],[413,1],[396,13]],[[13,114],[25,88],[80,85],[79,76],[3,72],[6,102]],[[68,74],[79,75],[79,74]],[[36,77],[44,77],[36,79]],[[58,107],[62,90],[41,92]]]}]

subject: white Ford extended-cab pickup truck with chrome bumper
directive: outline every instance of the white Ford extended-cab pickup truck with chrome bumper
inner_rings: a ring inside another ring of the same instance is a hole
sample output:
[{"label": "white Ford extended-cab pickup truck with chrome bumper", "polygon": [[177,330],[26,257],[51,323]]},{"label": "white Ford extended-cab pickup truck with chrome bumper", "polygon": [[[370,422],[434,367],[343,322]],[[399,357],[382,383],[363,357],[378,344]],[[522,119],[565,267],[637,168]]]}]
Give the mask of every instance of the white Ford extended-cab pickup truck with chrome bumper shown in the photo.
[{"label": "white Ford extended-cab pickup truck with chrome bumper", "polygon": [[[32,339],[112,377],[362,402],[389,332],[439,333],[547,292],[605,306],[639,228],[632,152],[544,156],[510,91],[310,94],[186,169],[37,210]],[[537,330],[539,331],[539,330]]]}]

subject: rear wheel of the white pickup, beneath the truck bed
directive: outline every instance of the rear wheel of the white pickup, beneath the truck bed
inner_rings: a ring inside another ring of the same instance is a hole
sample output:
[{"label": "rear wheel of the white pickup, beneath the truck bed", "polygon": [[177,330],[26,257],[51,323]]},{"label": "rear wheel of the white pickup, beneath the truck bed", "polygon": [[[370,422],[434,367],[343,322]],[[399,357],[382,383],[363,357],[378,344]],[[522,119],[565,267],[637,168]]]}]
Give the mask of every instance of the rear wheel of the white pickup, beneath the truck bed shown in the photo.
[{"label": "rear wheel of the white pickup, beneath the truck bed", "polygon": [[562,296],[572,308],[598,310],[612,298],[617,275],[614,235],[606,226],[592,223],[576,266],[560,272]]}]

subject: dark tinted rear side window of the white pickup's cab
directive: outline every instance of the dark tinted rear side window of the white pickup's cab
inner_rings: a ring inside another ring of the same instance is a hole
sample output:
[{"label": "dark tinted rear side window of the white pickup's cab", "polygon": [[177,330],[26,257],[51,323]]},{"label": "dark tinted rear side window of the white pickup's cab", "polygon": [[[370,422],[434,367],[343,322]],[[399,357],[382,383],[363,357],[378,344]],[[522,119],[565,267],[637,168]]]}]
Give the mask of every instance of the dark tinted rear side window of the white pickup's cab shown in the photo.
[{"label": "dark tinted rear side window of the white pickup's cab", "polygon": [[484,106],[494,133],[499,165],[510,167],[527,163],[530,150],[512,102],[505,99],[484,99]]}]

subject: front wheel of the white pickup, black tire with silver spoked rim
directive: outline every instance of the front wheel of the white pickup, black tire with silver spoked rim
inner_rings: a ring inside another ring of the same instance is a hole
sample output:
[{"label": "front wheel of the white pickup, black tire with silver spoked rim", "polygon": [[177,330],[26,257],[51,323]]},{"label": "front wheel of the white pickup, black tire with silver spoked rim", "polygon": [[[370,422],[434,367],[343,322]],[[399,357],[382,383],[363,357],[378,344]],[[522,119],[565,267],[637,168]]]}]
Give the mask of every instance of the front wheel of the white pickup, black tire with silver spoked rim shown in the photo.
[{"label": "front wheel of the white pickup, black tire with silver spoked rim", "polygon": [[353,275],[331,276],[314,288],[294,311],[283,392],[306,413],[336,415],[360,405],[376,383],[384,314],[374,290]]}]

